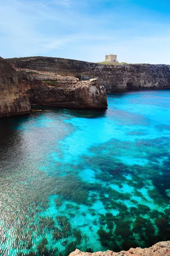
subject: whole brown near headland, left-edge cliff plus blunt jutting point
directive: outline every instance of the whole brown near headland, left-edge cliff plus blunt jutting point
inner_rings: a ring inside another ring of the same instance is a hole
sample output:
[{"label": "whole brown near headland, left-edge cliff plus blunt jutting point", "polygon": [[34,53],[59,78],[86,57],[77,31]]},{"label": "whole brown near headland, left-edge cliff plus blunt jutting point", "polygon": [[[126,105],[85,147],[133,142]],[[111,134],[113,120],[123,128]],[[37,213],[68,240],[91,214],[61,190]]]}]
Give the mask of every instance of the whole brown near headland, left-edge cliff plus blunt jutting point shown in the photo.
[{"label": "whole brown near headland, left-edge cliff plus blunt jutting point", "polygon": [[0,58],[0,117],[29,113],[31,105],[106,108],[105,87],[98,80],[21,69]]}]

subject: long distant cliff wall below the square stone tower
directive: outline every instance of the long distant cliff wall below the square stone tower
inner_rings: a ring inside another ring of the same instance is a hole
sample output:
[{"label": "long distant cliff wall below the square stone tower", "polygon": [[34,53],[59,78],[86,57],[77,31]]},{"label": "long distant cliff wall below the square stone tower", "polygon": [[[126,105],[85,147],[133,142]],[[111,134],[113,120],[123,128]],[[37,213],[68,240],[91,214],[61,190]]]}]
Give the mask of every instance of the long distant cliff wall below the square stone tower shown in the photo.
[{"label": "long distant cliff wall below the square stone tower", "polygon": [[80,80],[98,78],[106,90],[170,87],[170,65],[121,64],[103,65],[64,58],[28,57],[8,59],[16,67],[76,76]]}]

